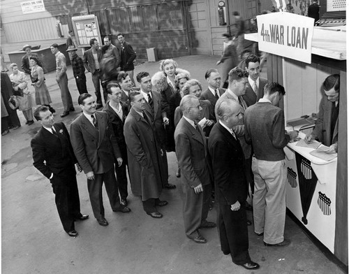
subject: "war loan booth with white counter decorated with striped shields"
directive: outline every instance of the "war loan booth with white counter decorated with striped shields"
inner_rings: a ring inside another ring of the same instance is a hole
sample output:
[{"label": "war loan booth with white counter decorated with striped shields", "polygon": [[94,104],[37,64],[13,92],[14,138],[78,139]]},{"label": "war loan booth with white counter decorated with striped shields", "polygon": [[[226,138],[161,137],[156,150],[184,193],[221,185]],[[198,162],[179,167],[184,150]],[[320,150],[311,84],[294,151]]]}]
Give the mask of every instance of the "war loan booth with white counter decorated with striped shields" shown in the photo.
[{"label": "war loan booth with white counter decorated with striped shields", "polygon": [[[280,13],[281,17],[284,15]],[[261,16],[266,16],[262,19],[267,22],[268,15]],[[289,24],[292,22],[288,21]],[[278,22],[274,18],[270,24]],[[263,39],[260,32],[245,34],[245,39],[258,43]],[[286,128],[290,120],[304,115],[313,117],[318,113],[323,95],[322,82],[331,74],[340,75],[338,157],[325,161],[310,154],[313,148],[289,143],[285,147],[288,167],[286,206],[307,233],[315,236],[322,247],[348,266],[346,26],[313,28],[311,62],[285,57],[283,52],[269,53],[267,78],[285,87],[286,94],[279,106],[285,112]],[[311,130],[301,130],[299,136],[304,138]]]}]

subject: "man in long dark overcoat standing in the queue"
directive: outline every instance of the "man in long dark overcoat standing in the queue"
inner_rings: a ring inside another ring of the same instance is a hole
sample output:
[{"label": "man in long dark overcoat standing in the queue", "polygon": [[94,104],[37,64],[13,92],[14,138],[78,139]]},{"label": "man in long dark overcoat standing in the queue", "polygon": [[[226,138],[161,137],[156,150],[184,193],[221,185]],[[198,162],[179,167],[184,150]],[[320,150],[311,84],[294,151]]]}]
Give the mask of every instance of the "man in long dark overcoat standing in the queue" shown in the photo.
[{"label": "man in long dark overcoat standing in the queue", "polygon": [[166,206],[160,201],[163,177],[167,176],[163,163],[161,143],[154,130],[151,117],[145,111],[145,99],[140,92],[130,92],[131,110],[125,120],[124,136],[127,145],[131,189],[139,196],[143,209],[153,218],[161,218],[156,206]]}]

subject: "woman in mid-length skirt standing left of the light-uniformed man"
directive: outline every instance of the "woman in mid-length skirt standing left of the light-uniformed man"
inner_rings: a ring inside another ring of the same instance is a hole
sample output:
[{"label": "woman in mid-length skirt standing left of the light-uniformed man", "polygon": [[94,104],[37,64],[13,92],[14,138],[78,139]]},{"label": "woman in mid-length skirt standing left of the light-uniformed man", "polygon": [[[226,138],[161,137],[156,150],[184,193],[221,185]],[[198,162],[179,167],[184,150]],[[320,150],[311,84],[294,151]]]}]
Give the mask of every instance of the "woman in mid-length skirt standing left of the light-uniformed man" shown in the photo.
[{"label": "woman in mid-length skirt standing left of the light-uniformed man", "polygon": [[51,96],[48,92],[45,83],[45,75],[39,59],[35,56],[30,57],[31,63],[31,85],[35,87],[35,101],[37,105],[45,105],[50,108],[51,113],[55,113],[56,110],[50,106]]}]

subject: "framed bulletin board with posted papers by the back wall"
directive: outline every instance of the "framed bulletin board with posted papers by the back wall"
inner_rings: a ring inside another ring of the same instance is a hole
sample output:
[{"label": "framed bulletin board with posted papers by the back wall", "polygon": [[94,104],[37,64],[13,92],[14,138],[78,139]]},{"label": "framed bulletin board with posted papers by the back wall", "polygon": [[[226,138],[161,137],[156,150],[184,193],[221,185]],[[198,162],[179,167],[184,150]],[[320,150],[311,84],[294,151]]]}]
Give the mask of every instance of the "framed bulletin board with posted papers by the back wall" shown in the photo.
[{"label": "framed bulletin board with posted papers by the back wall", "polygon": [[71,18],[71,22],[78,47],[89,47],[91,38],[96,38],[98,43],[101,43],[101,32],[95,15],[75,16]]}]

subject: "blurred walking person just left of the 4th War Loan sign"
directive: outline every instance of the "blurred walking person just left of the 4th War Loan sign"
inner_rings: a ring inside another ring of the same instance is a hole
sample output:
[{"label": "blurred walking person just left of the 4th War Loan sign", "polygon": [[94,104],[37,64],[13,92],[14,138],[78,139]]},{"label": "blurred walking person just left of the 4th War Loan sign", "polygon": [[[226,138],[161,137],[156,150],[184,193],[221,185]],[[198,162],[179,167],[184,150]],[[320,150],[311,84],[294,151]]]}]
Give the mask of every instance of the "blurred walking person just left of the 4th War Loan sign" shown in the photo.
[{"label": "blurred walking person just left of the 4th War Loan sign", "polygon": [[223,34],[225,48],[223,50],[223,55],[221,59],[216,63],[223,63],[222,67],[222,87],[228,87],[228,73],[231,69],[235,68],[239,62],[239,57],[237,56],[237,47],[232,41],[232,36],[230,34]]}]

